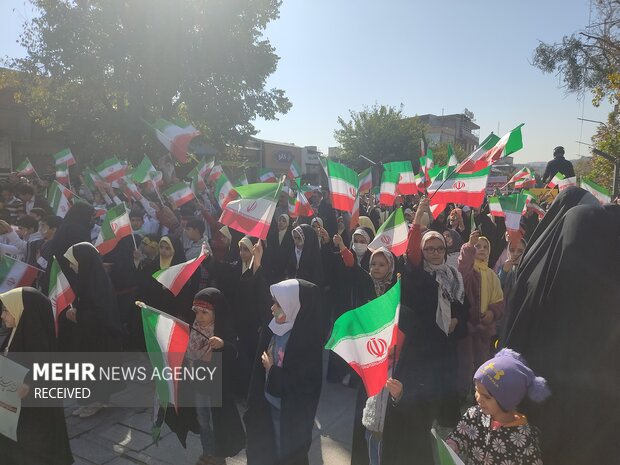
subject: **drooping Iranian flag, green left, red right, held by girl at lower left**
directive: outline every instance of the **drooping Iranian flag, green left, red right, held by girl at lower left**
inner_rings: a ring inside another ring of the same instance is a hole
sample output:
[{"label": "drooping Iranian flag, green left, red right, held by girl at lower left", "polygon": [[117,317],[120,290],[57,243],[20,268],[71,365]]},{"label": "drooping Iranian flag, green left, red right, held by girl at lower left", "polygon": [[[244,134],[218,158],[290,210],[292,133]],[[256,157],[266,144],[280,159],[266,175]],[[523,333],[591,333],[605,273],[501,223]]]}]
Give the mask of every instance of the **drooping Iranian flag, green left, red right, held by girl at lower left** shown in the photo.
[{"label": "drooping Iranian flag, green left, red right, held by girl at lower left", "polygon": [[[182,368],[189,343],[189,325],[142,302],[136,305],[142,308],[144,342],[153,368],[159,373]],[[179,382],[174,376],[169,378],[156,378],[155,388],[160,405],[165,408],[172,404],[176,409]]]}]

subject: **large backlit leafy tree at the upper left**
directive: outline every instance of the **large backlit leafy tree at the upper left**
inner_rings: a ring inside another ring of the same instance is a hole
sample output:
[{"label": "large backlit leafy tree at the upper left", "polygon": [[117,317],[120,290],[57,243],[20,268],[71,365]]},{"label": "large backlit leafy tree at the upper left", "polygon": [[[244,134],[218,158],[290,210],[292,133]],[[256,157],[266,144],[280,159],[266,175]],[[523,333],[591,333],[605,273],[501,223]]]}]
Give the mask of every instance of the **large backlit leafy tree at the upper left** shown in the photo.
[{"label": "large backlit leafy tree at the upper left", "polygon": [[222,148],[255,134],[256,117],[291,104],[266,89],[278,62],[263,37],[281,0],[31,0],[21,71],[1,86],[78,157],[163,151],[145,121],[180,117]]}]

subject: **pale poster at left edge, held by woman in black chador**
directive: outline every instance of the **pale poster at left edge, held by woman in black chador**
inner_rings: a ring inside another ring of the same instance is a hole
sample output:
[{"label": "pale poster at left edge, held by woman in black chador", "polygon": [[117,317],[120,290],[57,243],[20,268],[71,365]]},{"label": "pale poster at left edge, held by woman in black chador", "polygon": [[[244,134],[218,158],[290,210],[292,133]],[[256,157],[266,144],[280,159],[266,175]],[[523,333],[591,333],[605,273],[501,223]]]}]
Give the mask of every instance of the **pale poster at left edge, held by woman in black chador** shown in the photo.
[{"label": "pale poster at left edge, held by woman in black chador", "polygon": [[19,389],[28,369],[0,356],[0,434],[17,441],[17,423],[22,409]]}]

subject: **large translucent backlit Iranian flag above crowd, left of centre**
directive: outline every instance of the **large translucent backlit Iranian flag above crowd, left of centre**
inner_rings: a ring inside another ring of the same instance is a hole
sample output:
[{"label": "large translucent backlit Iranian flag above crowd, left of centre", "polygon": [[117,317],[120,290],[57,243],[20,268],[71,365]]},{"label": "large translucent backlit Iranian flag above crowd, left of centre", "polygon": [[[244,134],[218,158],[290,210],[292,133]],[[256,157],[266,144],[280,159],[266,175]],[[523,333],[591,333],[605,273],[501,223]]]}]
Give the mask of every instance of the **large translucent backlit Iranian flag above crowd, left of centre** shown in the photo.
[{"label": "large translucent backlit Iranian flag above crowd, left of centre", "polygon": [[222,208],[220,223],[265,240],[281,189],[282,183],[255,183],[234,188]]}]

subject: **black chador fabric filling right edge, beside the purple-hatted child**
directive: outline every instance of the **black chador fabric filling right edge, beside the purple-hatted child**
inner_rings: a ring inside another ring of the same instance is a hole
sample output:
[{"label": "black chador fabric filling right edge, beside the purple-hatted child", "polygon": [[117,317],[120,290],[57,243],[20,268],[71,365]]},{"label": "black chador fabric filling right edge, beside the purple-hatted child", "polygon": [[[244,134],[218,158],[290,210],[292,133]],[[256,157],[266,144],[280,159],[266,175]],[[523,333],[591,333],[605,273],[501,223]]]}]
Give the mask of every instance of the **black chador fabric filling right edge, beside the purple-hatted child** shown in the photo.
[{"label": "black chador fabric filling right edge, beside the purple-hatted child", "polygon": [[[620,454],[620,207],[574,206],[563,191],[525,251],[504,345],[549,382],[525,413],[546,464],[611,464]],[[546,229],[543,229],[546,225]]]}]

